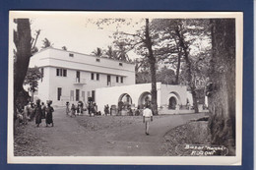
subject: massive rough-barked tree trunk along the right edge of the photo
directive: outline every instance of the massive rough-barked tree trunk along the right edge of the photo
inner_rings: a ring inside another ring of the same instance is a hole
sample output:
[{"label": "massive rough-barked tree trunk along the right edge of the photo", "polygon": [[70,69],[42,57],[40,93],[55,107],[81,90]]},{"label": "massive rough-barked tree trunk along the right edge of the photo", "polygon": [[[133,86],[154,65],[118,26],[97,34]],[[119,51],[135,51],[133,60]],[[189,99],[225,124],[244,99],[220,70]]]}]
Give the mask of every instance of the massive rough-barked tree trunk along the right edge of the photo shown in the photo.
[{"label": "massive rough-barked tree trunk along the right edge of the photo", "polygon": [[213,58],[209,93],[211,142],[235,155],[235,20],[215,19],[212,24]]}]

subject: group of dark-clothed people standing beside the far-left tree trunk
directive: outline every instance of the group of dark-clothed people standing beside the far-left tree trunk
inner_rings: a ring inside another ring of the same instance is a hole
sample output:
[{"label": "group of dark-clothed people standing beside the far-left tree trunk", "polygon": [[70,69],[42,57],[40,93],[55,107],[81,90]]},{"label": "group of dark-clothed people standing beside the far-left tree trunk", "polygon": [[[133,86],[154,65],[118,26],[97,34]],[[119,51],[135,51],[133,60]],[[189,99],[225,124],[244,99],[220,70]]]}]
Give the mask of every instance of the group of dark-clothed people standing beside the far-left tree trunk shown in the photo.
[{"label": "group of dark-clothed people standing beside the far-left tree trunk", "polygon": [[19,106],[17,110],[17,119],[19,123],[25,125],[28,124],[28,121],[32,122],[35,120],[36,127],[39,127],[41,120],[45,119],[46,127],[51,124],[53,127],[53,117],[52,113],[54,112],[53,107],[51,106],[52,101],[47,100],[46,106],[43,102],[40,102],[39,99],[35,101],[35,104],[30,102],[24,107]]}]

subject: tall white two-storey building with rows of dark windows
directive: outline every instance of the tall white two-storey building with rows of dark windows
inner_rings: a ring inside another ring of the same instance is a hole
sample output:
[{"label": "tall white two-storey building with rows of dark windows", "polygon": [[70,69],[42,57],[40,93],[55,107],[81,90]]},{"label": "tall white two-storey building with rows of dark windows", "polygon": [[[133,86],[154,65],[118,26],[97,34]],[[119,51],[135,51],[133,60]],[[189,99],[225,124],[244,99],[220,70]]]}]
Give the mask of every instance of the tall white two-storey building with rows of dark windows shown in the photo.
[{"label": "tall white two-storey building with rows of dark windows", "polygon": [[135,84],[133,64],[51,47],[32,56],[34,66],[43,74],[34,97],[52,100],[53,105],[95,100],[98,87]]}]

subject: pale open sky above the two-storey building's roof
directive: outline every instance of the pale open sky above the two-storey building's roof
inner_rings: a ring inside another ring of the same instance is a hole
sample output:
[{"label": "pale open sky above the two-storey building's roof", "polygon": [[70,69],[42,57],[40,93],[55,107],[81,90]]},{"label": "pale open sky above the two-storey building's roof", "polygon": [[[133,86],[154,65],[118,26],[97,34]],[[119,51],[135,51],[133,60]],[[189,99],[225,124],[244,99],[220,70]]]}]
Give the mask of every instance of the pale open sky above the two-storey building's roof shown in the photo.
[{"label": "pale open sky above the two-storey building's roof", "polygon": [[[113,46],[114,39],[111,35],[116,31],[116,25],[103,25],[103,28],[98,28],[95,23],[89,22],[86,16],[71,19],[41,16],[32,18],[31,22],[32,37],[35,37],[35,30],[41,29],[36,42],[38,49],[42,46],[42,40],[47,38],[53,43],[54,48],[61,49],[62,46],[66,46],[68,51],[85,54],[92,54],[97,47],[107,49],[108,45]],[[140,26],[132,24],[118,28],[118,30],[135,32],[136,28],[140,28]],[[130,52],[128,55],[132,59],[139,57],[134,52]]]}]

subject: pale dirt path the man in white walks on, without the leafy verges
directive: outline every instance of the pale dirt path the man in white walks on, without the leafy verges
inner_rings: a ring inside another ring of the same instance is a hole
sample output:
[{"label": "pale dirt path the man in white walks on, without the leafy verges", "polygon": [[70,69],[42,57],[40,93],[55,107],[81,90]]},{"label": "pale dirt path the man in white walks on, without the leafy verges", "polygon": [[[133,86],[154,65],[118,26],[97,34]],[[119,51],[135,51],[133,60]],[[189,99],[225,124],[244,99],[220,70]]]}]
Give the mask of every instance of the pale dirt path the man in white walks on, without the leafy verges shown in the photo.
[{"label": "pale dirt path the man in white walks on, without the leafy verges", "polygon": [[[114,122],[119,118],[89,116],[70,118],[65,115],[64,109],[56,109],[54,127],[46,128],[43,122],[40,128],[34,128],[34,132],[41,139],[47,154],[52,156],[160,156],[162,137],[168,130],[203,116],[205,114],[155,117],[154,122],[151,123],[150,136],[146,136],[145,125],[140,117],[125,126],[116,124],[111,128],[92,131],[89,127],[79,124],[77,119],[88,119],[90,122],[101,119],[104,124],[106,119],[112,119]],[[112,122],[111,124],[114,124]]]}]

